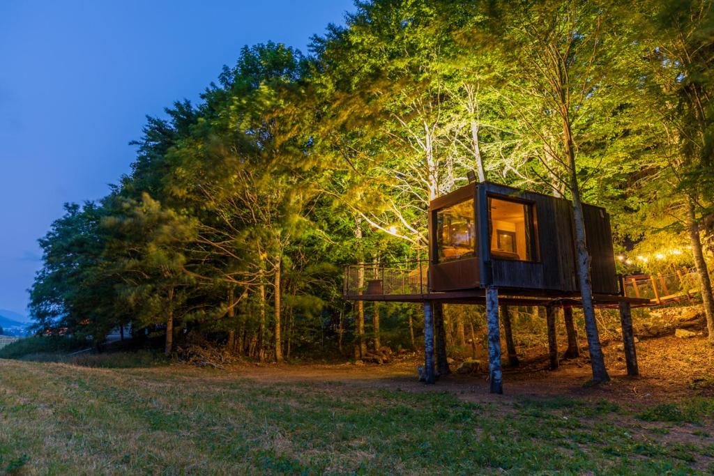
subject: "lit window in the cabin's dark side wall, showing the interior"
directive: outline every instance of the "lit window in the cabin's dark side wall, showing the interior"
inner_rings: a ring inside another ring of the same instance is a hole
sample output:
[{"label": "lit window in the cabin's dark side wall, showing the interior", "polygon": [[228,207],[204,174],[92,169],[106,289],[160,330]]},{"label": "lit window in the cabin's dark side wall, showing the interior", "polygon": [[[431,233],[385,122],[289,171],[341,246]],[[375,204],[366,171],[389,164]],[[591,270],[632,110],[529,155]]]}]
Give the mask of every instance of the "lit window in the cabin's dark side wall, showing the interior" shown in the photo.
[{"label": "lit window in the cabin's dark side wall, showing the interior", "polygon": [[489,198],[491,256],[506,260],[535,260],[533,256],[533,206]]}]

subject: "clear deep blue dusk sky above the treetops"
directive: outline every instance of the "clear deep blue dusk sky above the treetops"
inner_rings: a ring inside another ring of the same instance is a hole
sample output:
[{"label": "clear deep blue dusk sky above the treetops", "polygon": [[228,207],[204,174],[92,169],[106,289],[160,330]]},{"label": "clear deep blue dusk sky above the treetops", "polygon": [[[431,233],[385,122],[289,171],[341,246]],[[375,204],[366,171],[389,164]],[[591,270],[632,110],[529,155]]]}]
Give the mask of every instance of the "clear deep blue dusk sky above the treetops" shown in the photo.
[{"label": "clear deep blue dusk sky above the treetops", "polygon": [[306,52],[352,0],[0,1],[0,308],[26,314],[63,203],[129,173],[145,116],[198,99],[243,45]]}]

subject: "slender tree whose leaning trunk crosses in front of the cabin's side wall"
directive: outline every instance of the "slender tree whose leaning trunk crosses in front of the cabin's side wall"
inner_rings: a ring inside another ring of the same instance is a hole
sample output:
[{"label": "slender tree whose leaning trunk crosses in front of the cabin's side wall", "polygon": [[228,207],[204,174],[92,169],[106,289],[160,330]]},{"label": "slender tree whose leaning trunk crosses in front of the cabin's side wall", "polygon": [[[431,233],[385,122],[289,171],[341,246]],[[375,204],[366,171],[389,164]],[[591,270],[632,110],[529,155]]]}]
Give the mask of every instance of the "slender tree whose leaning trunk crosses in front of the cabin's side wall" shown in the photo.
[{"label": "slender tree whose leaning trunk crosses in front of the cabin's side wall", "polygon": [[620,134],[606,123],[628,98],[623,87],[628,76],[619,61],[628,42],[619,36],[615,7],[590,1],[540,1],[519,8],[504,3],[496,29],[513,65],[503,91],[519,114],[516,133],[535,144],[531,173],[548,186],[555,183],[553,188],[565,191],[573,203],[578,283],[595,382],[609,376],[595,321],[582,183],[593,172],[590,164],[598,159],[607,164],[603,148],[607,151]]}]

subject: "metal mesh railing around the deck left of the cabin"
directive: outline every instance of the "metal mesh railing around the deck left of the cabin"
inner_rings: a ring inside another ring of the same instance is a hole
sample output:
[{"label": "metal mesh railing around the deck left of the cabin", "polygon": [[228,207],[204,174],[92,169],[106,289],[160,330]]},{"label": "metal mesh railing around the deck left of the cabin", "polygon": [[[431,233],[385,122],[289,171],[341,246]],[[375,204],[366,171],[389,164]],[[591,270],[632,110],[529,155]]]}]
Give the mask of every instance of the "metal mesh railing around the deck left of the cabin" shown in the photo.
[{"label": "metal mesh railing around the deck left of the cabin", "polygon": [[344,295],[423,295],[428,293],[427,281],[426,261],[348,265]]}]

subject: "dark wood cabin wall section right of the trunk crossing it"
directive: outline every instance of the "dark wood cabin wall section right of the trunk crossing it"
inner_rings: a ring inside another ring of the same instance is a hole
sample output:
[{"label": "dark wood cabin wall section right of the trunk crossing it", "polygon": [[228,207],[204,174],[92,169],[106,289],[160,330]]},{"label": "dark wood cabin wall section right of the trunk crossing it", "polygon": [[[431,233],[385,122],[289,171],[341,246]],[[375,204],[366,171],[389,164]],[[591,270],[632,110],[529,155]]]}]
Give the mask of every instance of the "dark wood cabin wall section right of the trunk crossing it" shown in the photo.
[{"label": "dark wood cabin wall section right of the trunk crossing it", "polygon": [[593,293],[617,294],[620,287],[615,270],[610,216],[605,208],[583,205],[583,217],[586,243],[592,258],[590,275],[593,279]]}]

